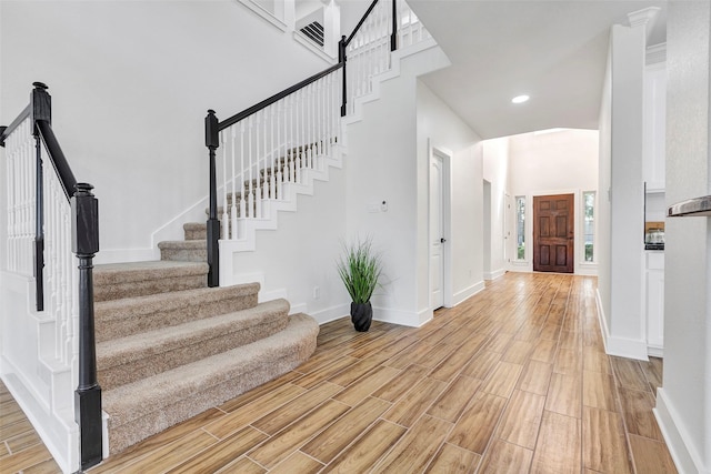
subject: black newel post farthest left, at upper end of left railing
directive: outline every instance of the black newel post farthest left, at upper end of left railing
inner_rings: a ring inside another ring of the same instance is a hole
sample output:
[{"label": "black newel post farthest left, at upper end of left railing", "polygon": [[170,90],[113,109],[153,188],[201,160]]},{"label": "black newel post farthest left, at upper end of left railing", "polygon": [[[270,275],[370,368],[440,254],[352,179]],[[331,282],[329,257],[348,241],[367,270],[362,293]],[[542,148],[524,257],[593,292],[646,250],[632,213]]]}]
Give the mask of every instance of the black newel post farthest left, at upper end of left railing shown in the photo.
[{"label": "black newel post farthest left, at upper end of left railing", "polygon": [[37,311],[44,311],[44,191],[42,170],[42,148],[37,122],[52,122],[52,100],[47,85],[33,82],[30,94],[31,118],[34,135],[34,302]]}]

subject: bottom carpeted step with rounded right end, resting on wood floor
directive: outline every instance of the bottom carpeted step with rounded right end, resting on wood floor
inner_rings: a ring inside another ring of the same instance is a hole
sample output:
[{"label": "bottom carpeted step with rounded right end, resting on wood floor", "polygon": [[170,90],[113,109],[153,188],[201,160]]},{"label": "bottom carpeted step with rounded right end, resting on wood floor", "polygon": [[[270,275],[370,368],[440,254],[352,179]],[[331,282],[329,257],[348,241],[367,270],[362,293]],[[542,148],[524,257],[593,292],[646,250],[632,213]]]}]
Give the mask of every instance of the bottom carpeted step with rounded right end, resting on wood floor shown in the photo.
[{"label": "bottom carpeted step with rounded right end, resting on wood floor", "polygon": [[117,453],[297,367],[316,350],[318,323],[306,314],[284,331],[103,392],[109,448]]}]

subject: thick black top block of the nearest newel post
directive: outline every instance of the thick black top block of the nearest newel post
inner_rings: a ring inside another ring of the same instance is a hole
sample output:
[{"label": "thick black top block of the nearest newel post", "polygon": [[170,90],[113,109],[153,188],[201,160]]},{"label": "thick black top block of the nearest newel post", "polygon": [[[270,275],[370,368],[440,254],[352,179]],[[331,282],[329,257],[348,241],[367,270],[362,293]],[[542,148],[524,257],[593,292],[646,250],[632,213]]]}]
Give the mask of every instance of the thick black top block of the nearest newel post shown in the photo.
[{"label": "thick black top block of the nearest newel post", "polygon": [[99,252],[99,201],[89,183],[77,183],[71,198],[71,251],[79,255]]}]

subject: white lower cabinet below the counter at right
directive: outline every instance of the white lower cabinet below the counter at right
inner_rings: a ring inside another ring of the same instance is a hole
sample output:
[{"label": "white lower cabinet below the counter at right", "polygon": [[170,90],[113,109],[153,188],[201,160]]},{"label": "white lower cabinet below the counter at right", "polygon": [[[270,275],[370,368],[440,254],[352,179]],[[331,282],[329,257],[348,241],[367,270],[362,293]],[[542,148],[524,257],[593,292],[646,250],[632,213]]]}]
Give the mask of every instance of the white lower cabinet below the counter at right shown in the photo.
[{"label": "white lower cabinet below the counter at right", "polygon": [[664,355],[664,252],[644,253],[647,353],[661,357]]}]

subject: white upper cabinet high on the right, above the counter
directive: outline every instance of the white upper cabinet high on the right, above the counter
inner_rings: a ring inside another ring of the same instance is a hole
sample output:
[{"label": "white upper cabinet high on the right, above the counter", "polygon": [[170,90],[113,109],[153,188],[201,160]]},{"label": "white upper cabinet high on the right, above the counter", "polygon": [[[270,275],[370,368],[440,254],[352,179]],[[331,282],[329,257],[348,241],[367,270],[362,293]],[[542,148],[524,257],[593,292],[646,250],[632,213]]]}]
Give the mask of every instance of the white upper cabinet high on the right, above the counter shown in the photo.
[{"label": "white upper cabinet high on the right, above the counter", "polygon": [[644,69],[644,113],[642,121],[642,177],[648,192],[664,190],[665,181],[667,64]]}]

